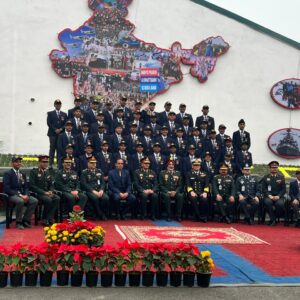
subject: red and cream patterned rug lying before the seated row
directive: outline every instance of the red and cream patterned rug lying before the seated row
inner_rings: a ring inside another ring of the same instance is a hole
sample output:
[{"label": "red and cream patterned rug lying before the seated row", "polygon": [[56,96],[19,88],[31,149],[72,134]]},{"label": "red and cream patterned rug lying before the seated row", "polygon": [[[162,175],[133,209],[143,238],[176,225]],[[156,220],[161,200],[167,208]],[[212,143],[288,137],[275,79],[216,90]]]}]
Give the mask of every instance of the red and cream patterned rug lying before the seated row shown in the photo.
[{"label": "red and cream patterned rug lying before the seated row", "polygon": [[234,228],[118,226],[116,230],[130,242],[193,244],[268,244]]}]

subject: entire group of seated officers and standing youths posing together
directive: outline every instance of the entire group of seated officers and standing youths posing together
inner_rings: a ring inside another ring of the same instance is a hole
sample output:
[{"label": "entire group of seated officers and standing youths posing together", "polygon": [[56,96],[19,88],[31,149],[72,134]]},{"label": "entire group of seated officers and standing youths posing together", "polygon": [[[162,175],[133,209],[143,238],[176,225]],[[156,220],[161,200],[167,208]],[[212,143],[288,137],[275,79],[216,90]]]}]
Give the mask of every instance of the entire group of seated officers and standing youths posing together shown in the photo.
[{"label": "entire group of seated officers and standing youths posing together", "polygon": [[110,101],[75,97],[67,112],[61,100],[54,101],[47,114],[49,155],[39,157],[29,181],[20,170],[21,157],[12,158],[12,169],[4,175],[18,228],[31,226],[39,201],[45,225],[77,204],[100,220],[187,218],[230,224],[243,215],[248,225],[267,216],[270,226],[291,210],[300,226],[300,170],[289,192],[277,161],[269,162],[264,177],[252,175],[251,135],[244,119],[228,134],[208,105],[194,119],[184,103],[174,112],[166,102],[157,112],[154,101],[143,107],[137,100],[129,108],[127,100],[120,96],[114,107]]}]

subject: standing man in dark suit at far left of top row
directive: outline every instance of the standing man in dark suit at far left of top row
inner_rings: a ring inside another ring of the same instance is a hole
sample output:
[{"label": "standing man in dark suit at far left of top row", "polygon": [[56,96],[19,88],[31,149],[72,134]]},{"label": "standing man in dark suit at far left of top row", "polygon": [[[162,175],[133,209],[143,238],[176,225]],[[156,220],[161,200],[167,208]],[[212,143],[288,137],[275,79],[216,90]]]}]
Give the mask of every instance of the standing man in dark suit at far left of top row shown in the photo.
[{"label": "standing man in dark suit at far left of top row", "polygon": [[49,167],[52,168],[55,151],[57,151],[57,140],[59,134],[64,130],[65,123],[67,121],[67,114],[60,111],[61,101],[59,99],[54,101],[55,110],[47,113],[47,125],[50,149],[49,149]]}]

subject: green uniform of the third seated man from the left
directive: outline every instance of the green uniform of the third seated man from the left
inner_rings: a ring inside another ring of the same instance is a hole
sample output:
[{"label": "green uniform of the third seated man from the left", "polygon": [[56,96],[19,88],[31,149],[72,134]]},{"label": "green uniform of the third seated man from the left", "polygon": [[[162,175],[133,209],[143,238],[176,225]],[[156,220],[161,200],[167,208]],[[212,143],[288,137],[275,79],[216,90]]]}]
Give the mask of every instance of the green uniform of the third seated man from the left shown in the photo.
[{"label": "green uniform of the third seated man from the left", "polygon": [[[75,204],[80,205],[81,209],[84,210],[87,196],[80,190],[80,181],[76,172],[70,170],[60,170],[55,176],[55,187],[58,191],[62,192],[63,199],[66,200],[68,205],[68,211],[73,211]],[[75,198],[71,192],[78,191],[78,198]],[[76,203],[77,201],[77,203]]]}]

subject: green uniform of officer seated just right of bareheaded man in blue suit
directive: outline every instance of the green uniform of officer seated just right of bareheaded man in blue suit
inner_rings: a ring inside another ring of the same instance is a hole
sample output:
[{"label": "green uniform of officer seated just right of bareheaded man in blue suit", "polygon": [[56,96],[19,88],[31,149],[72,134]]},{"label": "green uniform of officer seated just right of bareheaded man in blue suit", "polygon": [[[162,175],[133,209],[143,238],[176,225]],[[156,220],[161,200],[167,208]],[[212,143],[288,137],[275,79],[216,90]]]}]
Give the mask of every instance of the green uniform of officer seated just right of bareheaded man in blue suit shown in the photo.
[{"label": "green uniform of officer seated just right of bareheaded man in blue suit", "polygon": [[[134,173],[133,185],[141,201],[141,217],[147,215],[147,200],[151,204],[151,219],[155,219],[158,210],[158,183],[157,176],[152,170],[139,169]],[[153,194],[145,194],[144,190],[153,190]]]}]

